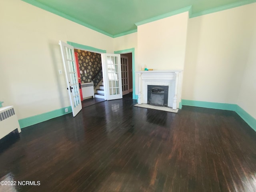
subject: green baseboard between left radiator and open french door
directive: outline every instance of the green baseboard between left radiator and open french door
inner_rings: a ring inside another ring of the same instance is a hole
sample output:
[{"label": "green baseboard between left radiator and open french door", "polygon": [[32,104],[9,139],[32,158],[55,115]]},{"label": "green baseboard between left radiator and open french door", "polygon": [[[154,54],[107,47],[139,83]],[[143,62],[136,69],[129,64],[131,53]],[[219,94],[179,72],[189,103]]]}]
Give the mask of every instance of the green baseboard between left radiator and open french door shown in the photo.
[{"label": "green baseboard between left radiator and open french door", "polygon": [[[68,108],[68,112],[65,112],[65,108]],[[31,116],[31,117],[27,117],[24,119],[20,119],[19,124],[20,124],[20,128],[24,128],[24,127],[28,127],[34,124],[38,124],[40,122],[44,122],[47,120],[50,120],[52,118],[56,118],[68,113],[72,112],[72,108],[71,106],[68,107],[64,107],[64,108],[60,108],[60,109],[56,109],[50,112],[46,112],[46,113],[42,113],[39,115],[35,115],[35,116]]]}]

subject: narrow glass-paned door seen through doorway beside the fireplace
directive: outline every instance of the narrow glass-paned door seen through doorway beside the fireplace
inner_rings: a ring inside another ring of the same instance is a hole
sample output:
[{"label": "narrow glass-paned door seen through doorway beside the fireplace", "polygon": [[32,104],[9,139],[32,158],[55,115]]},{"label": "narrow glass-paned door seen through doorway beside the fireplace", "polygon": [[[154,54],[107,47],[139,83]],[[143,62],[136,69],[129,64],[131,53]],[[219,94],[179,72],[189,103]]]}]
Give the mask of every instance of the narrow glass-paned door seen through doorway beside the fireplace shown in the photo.
[{"label": "narrow glass-paned door seen through doorway beside the fireplace", "polygon": [[121,55],[122,95],[129,93],[128,57]]}]

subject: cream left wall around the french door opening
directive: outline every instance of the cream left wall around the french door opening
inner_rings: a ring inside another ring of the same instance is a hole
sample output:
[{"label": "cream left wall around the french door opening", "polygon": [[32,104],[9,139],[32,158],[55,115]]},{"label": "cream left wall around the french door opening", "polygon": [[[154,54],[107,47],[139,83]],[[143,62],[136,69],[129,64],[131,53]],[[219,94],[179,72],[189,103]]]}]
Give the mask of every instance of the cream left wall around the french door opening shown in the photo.
[{"label": "cream left wall around the french door opening", "polygon": [[0,101],[18,119],[70,106],[59,40],[114,51],[112,38],[20,0],[0,1],[0,26]]}]

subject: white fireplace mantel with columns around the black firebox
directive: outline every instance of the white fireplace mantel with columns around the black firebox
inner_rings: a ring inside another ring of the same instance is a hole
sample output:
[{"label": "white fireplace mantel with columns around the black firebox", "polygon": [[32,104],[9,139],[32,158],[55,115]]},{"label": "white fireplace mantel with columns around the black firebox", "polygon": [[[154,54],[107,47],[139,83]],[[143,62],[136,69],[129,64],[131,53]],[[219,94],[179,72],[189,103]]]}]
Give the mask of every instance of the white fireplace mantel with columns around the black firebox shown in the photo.
[{"label": "white fireplace mantel with columns around the black firebox", "polygon": [[148,85],[169,86],[168,107],[177,109],[181,101],[183,70],[136,71],[138,74],[138,104],[148,102]]}]

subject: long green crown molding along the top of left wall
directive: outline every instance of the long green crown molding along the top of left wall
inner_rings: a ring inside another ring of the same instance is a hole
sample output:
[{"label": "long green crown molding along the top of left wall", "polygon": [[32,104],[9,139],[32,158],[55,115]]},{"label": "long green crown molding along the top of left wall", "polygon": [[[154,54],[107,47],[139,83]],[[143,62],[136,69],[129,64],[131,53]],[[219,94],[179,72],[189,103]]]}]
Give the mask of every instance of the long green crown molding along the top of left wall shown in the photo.
[{"label": "long green crown molding along the top of left wall", "polygon": [[92,29],[92,30],[94,30],[94,31],[97,31],[97,32],[99,32],[99,33],[102,33],[102,34],[104,34],[104,35],[106,35],[106,36],[110,36],[110,37],[114,38],[114,36],[113,36],[112,34],[109,34],[109,33],[105,32],[105,31],[103,31],[103,30],[100,30],[100,29],[94,27],[94,26],[91,26],[91,25],[89,25],[89,24],[87,24],[87,23],[84,23],[84,22],[82,22],[82,21],[80,21],[80,20],[78,20],[78,19],[76,19],[76,18],[73,18],[73,17],[71,17],[71,16],[69,16],[69,15],[67,15],[67,14],[64,14],[64,13],[62,13],[62,12],[56,10],[56,9],[50,8],[50,7],[48,7],[48,6],[44,5],[44,4],[41,4],[41,3],[39,3],[39,2],[36,2],[35,0],[22,0],[22,1],[24,1],[24,2],[26,2],[26,3],[29,3],[29,4],[31,4],[31,5],[34,5],[34,6],[38,7],[38,8],[43,9],[43,10],[46,10],[46,11],[48,11],[48,12],[51,12],[51,13],[53,13],[53,14],[56,14],[56,15],[58,15],[58,16],[61,16],[61,17],[65,18],[65,19],[68,19],[68,20],[70,20],[70,21],[73,21],[73,22],[75,22],[75,23],[77,23],[77,24],[80,24],[80,25],[82,25],[82,26],[85,26],[85,27],[87,27],[87,28],[90,28],[90,29]]}]

